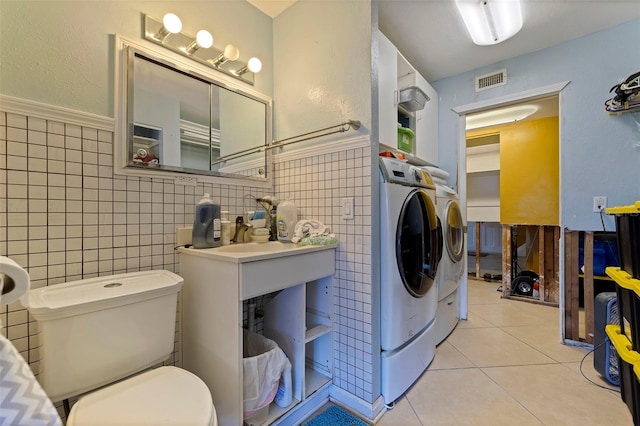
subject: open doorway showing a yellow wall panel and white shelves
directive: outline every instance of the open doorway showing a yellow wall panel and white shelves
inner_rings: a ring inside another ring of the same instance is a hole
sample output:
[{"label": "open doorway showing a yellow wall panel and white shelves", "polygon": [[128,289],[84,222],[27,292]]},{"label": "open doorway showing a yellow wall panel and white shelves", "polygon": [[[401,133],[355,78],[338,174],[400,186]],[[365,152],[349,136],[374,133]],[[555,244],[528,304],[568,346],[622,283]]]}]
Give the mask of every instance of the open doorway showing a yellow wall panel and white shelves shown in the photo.
[{"label": "open doorway showing a yellow wall panel and white shelves", "polygon": [[[468,261],[475,278],[502,281],[501,224],[558,225],[558,102],[553,95],[466,117]],[[537,226],[521,228],[515,243],[514,276],[536,267]]]}]

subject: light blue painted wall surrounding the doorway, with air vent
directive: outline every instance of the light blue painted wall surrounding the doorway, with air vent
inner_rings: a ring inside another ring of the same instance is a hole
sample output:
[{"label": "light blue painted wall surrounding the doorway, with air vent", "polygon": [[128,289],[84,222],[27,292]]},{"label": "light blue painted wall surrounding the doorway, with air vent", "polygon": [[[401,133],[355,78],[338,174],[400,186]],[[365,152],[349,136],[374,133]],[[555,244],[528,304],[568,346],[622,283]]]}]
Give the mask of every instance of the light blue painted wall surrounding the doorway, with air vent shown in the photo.
[{"label": "light blue painted wall surrounding the doorway, with air vent", "polygon": [[[595,195],[610,206],[640,200],[640,115],[609,116],[609,89],[640,68],[640,20],[596,32],[433,84],[440,95],[440,167],[457,172],[456,118],[451,108],[500,98],[562,81],[560,203],[561,225],[602,230],[592,212]],[[476,94],[474,77],[506,68],[508,84]],[[535,164],[529,165],[535,170]],[[607,230],[614,221],[605,216]]]}]

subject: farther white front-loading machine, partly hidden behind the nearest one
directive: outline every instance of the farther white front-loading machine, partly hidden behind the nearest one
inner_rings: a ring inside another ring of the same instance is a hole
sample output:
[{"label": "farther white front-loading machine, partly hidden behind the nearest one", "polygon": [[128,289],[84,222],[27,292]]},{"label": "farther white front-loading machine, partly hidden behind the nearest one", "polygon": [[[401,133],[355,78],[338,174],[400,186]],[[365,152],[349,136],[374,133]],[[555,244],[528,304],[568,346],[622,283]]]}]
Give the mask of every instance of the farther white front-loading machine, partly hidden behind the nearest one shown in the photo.
[{"label": "farther white front-loading machine, partly hidden behind the nearest one", "polygon": [[436,344],[442,342],[458,324],[458,287],[464,274],[465,224],[458,194],[446,185],[436,184],[436,204],[441,224],[443,254],[438,265],[438,309]]}]

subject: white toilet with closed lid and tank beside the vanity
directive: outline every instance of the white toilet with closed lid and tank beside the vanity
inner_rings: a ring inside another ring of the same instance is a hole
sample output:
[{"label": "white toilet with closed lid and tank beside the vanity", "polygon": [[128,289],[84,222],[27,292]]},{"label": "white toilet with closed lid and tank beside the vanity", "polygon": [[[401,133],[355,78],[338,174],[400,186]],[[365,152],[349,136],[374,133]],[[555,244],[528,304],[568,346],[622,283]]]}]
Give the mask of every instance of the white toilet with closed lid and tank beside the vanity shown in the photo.
[{"label": "white toilet with closed lid and tank beside the vanity", "polygon": [[40,326],[40,382],[49,398],[101,388],[73,405],[67,425],[217,425],[202,380],[176,367],[149,370],[173,351],[183,282],[169,271],[145,271],[29,293],[28,309]]}]

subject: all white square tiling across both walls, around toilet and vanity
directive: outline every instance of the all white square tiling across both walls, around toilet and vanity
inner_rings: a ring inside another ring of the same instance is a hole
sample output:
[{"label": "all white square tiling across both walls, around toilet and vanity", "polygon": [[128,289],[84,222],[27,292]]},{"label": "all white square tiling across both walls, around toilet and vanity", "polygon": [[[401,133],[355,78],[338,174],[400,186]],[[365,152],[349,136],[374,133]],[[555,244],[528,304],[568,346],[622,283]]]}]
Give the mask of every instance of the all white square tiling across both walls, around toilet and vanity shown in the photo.
[{"label": "all white square tiling across both walls, around toilet and vanity", "polygon": [[[109,130],[0,111],[0,254],[29,272],[33,288],[149,269],[179,273],[176,228],[192,223],[204,192],[233,218],[250,196],[270,191],[114,175],[113,137]],[[292,199],[300,218],[320,220],[338,235],[334,384],[373,402],[371,148],[368,137],[347,142],[331,143],[329,153],[276,155],[273,192]],[[342,218],[343,198],[354,199],[354,219]],[[0,322],[0,333],[37,375],[36,321],[15,302],[0,308]],[[180,365],[179,329],[167,364]]]}]

